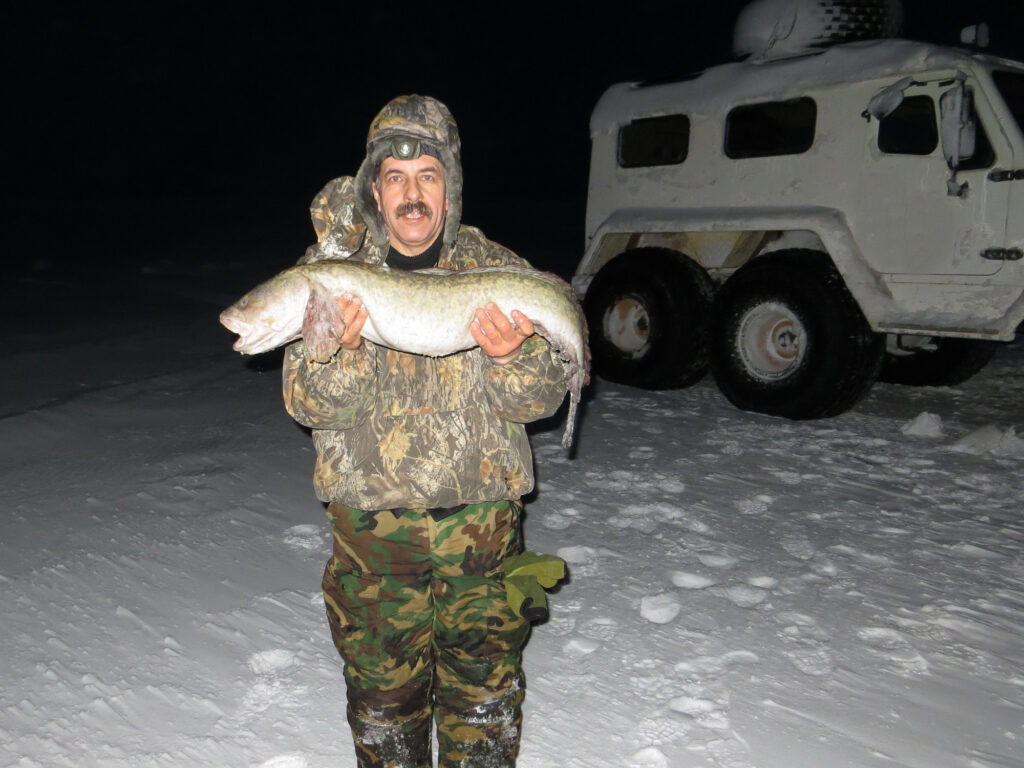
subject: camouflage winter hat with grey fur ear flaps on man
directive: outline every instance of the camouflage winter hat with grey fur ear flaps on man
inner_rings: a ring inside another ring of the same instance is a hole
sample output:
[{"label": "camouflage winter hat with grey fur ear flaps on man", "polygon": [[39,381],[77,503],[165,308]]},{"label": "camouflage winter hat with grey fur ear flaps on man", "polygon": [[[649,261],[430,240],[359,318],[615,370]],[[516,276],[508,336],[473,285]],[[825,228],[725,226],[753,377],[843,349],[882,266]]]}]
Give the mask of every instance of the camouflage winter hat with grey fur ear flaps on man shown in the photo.
[{"label": "camouflage winter hat with grey fur ear flaps on man", "polygon": [[[408,141],[407,141],[408,140]],[[409,146],[402,146],[408,143]],[[417,148],[418,146],[418,148]],[[447,197],[447,218],[442,239],[445,245],[455,243],[462,218],[462,162],[459,159],[459,127],[449,109],[431,96],[412,94],[393,98],[370,124],[367,134],[367,157],[355,176],[357,207],[368,223],[374,243],[388,242],[384,218],[377,210],[371,185],[377,180],[381,162],[387,157],[402,159],[403,151],[432,155],[444,168],[444,189]],[[396,154],[397,153],[397,154]],[[437,215],[440,212],[435,212]]]}]

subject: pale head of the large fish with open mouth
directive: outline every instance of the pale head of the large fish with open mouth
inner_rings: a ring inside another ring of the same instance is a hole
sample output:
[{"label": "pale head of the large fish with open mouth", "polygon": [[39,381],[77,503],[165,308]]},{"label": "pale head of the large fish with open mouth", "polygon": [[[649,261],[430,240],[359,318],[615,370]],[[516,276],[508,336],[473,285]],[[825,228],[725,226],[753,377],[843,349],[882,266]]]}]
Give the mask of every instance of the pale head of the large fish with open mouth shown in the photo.
[{"label": "pale head of the large fish with open mouth", "polygon": [[239,335],[232,349],[259,354],[297,339],[308,296],[308,283],[287,271],[254,288],[220,313],[220,324]]}]

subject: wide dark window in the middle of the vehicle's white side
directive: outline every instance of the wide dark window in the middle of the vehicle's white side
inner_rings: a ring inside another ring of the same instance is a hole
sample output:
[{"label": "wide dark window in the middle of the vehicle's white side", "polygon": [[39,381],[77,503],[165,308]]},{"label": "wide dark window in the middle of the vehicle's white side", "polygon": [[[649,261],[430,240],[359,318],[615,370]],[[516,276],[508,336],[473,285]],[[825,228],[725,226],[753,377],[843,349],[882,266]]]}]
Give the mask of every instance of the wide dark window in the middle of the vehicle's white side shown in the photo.
[{"label": "wide dark window in the middle of the vehicle's white side", "polygon": [[725,154],[739,159],[807,152],[817,116],[809,96],[736,106],[725,119]]}]

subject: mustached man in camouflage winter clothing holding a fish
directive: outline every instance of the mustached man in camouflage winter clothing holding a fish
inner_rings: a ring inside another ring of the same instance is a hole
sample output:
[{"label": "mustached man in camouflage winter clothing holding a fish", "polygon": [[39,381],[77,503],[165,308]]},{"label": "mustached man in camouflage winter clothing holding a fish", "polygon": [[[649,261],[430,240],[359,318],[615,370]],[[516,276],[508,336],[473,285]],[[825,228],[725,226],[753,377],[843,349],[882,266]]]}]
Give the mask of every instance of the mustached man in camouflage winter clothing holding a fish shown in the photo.
[{"label": "mustached man in camouflage winter clothing holding a fish", "polygon": [[[395,269],[523,263],[461,225],[459,153],[442,103],[389,102],[355,177],[367,237],[348,257]],[[534,485],[523,424],[557,410],[561,366],[514,308],[478,308],[479,347],[433,358],[362,339],[359,298],[339,304],[339,351],[321,365],[289,347],[284,394],[313,429],[314,482],[330,502],[324,595],[358,764],[429,766],[435,720],[440,766],[513,766],[529,623],[509,605],[503,562],[521,551],[519,499]]]}]

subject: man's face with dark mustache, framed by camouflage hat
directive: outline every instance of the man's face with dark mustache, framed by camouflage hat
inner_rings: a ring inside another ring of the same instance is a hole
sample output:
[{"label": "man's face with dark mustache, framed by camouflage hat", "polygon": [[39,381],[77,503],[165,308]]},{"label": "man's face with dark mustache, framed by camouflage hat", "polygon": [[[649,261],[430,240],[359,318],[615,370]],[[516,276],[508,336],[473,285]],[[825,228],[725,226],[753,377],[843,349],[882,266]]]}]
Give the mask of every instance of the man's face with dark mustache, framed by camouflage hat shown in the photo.
[{"label": "man's face with dark mustache, framed by camouflage hat", "polygon": [[447,198],[444,169],[437,158],[385,158],[373,185],[391,246],[407,256],[426,251],[444,228]]}]

